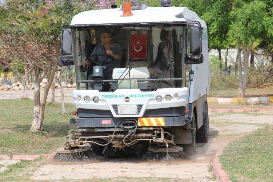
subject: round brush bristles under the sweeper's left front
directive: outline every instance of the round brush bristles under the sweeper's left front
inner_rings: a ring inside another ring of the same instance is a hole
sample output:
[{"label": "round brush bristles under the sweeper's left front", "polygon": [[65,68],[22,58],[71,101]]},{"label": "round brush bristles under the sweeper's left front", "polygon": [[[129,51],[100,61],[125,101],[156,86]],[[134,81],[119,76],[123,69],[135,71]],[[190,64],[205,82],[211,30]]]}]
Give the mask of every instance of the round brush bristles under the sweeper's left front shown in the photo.
[{"label": "round brush bristles under the sweeper's left front", "polygon": [[92,150],[87,150],[77,153],[56,153],[54,158],[60,162],[79,162],[85,160],[96,160],[98,159],[98,156]]}]

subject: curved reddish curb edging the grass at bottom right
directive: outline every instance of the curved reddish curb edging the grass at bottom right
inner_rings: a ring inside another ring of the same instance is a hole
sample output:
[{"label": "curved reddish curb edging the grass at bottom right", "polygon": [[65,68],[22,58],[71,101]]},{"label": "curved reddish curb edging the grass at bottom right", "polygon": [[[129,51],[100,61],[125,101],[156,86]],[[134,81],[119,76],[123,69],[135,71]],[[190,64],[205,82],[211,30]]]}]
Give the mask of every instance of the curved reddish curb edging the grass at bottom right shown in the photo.
[{"label": "curved reddish curb edging the grass at bottom right", "polygon": [[212,160],[212,166],[213,166],[213,172],[214,175],[216,176],[216,182],[232,182],[228,176],[227,173],[222,169],[222,165],[220,163],[220,159],[219,156],[223,153],[224,147],[226,147],[228,145],[228,143],[241,138],[242,136],[248,135],[250,133],[253,133],[255,130],[250,131],[248,133],[236,136],[235,138],[229,140],[228,142],[226,142],[222,147],[220,147],[219,150],[217,150],[217,153],[215,154],[213,160]]}]

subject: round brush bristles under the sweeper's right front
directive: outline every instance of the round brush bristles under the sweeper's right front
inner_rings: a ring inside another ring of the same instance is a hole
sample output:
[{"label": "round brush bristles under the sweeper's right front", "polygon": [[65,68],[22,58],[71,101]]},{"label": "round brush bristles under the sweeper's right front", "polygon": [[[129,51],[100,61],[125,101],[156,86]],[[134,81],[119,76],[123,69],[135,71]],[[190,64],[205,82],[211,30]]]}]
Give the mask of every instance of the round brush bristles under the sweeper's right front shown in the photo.
[{"label": "round brush bristles under the sweeper's right front", "polygon": [[180,152],[152,152],[147,151],[141,157],[145,161],[180,161],[180,160],[190,160],[190,157],[183,151]]}]

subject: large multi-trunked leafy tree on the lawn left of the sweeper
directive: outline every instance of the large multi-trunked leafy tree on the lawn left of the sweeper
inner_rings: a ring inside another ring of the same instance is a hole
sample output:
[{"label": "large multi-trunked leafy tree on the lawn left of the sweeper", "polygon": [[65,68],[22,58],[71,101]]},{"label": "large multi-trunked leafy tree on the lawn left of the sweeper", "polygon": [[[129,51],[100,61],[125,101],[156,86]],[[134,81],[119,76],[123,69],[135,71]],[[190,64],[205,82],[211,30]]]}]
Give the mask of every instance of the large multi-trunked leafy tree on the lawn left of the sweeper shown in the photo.
[{"label": "large multi-trunked leafy tree on the lawn left of the sweeper", "polygon": [[[43,130],[46,98],[58,66],[62,23],[70,22],[80,11],[101,8],[101,5],[107,6],[106,1],[8,0],[0,7],[0,34],[5,37],[9,31],[13,33],[10,41],[18,49],[13,56],[25,57],[21,61],[32,68],[34,75],[34,114],[30,131]],[[62,23],[58,23],[59,20]],[[18,41],[21,41],[19,45]],[[48,83],[40,100],[40,83],[45,76]]]}]

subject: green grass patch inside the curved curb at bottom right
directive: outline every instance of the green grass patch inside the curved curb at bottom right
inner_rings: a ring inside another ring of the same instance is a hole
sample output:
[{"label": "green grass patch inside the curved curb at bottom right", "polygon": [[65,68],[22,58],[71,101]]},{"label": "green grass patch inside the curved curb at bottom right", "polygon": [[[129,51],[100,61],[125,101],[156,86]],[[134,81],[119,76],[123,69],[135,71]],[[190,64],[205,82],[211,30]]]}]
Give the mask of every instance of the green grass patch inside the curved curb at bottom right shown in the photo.
[{"label": "green grass patch inside the curved curb at bottom right", "polygon": [[273,181],[273,126],[228,144],[220,162],[233,182]]}]

